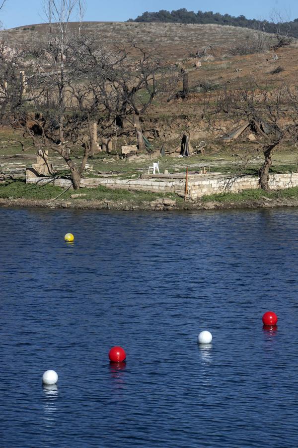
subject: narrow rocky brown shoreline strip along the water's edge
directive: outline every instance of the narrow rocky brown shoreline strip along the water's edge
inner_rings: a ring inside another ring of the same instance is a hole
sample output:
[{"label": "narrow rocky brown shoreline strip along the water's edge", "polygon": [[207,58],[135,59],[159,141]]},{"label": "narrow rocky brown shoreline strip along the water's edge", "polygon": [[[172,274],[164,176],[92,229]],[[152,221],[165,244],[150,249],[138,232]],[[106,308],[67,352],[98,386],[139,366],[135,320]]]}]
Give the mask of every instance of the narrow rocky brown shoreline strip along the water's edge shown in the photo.
[{"label": "narrow rocky brown shoreline strip along the water's edge", "polygon": [[270,199],[265,196],[254,201],[217,202],[217,201],[179,201],[168,198],[158,198],[151,202],[133,201],[83,201],[64,200],[48,201],[41,199],[1,199],[0,207],[36,207],[47,209],[77,209],[77,210],[115,210],[115,211],[204,211],[231,209],[272,209],[275,207],[298,207],[298,199]]}]

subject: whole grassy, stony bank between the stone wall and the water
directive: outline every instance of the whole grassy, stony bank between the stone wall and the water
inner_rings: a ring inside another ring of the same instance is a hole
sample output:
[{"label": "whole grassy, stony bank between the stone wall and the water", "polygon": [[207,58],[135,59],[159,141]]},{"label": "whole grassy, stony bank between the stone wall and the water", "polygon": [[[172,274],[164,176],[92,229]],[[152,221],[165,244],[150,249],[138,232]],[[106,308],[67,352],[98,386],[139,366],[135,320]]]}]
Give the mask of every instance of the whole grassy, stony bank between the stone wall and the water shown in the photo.
[{"label": "whole grassy, stony bank between the stone wall and the water", "polygon": [[[72,198],[72,195],[85,195]],[[98,203],[111,202],[117,205],[117,209],[125,210],[134,207],[147,210],[150,202],[158,199],[169,198],[176,201],[178,209],[200,210],[205,208],[246,208],[246,207],[267,207],[267,206],[298,206],[298,187],[287,190],[264,192],[262,190],[245,190],[241,193],[222,193],[204,196],[196,202],[187,201],[174,193],[150,193],[134,192],[127,190],[111,190],[103,186],[97,188],[81,188],[79,191],[63,190],[60,187],[50,185],[37,186],[26,184],[24,181],[13,181],[6,185],[0,185],[0,199],[28,201],[28,206],[43,203],[43,205],[62,206],[69,204],[70,207],[84,206],[84,208],[94,207]],[[36,201],[36,203],[34,203]],[[40,202],[38,202],[40,201]],[[22,204],[25,205],[25,204]]]}]

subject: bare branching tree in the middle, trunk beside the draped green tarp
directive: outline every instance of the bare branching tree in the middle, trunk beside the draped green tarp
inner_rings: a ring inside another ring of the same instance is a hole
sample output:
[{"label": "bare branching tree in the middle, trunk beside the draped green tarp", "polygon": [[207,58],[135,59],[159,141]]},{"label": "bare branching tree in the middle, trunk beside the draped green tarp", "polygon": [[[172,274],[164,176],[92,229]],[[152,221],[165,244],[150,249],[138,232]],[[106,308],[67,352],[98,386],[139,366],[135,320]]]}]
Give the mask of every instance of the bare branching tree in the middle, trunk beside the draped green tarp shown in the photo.
[{"label": "bare branching tree in the middle, trunk beside the draped green tarp", "polygon": [[164,91],[164,65],[137,44],[116,51],[96,52],[89,47],[89,51],[94,88],[101,91],[102,104],[121,129],[134,127],[139,151],[144,150],[141,119],[153,99]]}]

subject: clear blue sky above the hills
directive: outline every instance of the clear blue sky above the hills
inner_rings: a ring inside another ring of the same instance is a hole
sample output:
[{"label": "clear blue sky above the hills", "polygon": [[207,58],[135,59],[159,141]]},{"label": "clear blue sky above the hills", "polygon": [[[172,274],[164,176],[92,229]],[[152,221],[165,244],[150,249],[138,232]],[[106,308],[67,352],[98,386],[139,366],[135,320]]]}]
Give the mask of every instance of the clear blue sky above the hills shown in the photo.
[{"label": "clear blue sky above the hills", "polygon": [[[293,20],[298,18],[297,0],[210,0],[183,1],[183,0],[148,0],[140,2],[135,0],[113,0],[109,2],[99,0],[86,0],[87,12],[85,20],[92,21],[125,21],[136,18],[144,11],[159,11],[159,9],[179,9],[213,11],[231,15],[243,14],[247,18],[270,19],[273,9],[278,10],[285,17]],[[42,0],[6,0],[4,10],[0,11],[0,20],[5,28],[29,25],[44,21],[41,17]],[[144,6],[143,6],[144,5]]]}]

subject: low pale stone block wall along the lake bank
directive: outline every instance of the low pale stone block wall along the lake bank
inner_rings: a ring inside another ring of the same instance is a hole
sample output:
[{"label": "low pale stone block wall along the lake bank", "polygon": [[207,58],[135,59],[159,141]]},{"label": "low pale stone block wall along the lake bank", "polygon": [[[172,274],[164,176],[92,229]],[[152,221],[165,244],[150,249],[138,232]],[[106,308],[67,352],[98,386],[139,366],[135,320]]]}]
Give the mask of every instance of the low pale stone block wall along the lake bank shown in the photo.
[{"label": "low pale stone block wall along the lake bank", "polygon": [[[38,185],[55,185],[68,188],[72,185],[69,179],[52,179],[49,177],[26,178],[27,183]],[[87,178],[81,179],[81,187],[95,188],[103,185],[111,189],[150,191],[153,193],[179,193],[185,191],[185,179],[117,179],[117,178]],[[298,186],[298,173],[272,174],[269,176],[269,186],[272,190],[283,190]],[[254,190],[260,188],[259,179],[253,176],[212,176],[198,175],[191,177],[188,182],[188,197],[199,199],[202,196],[242,190]]]}]

